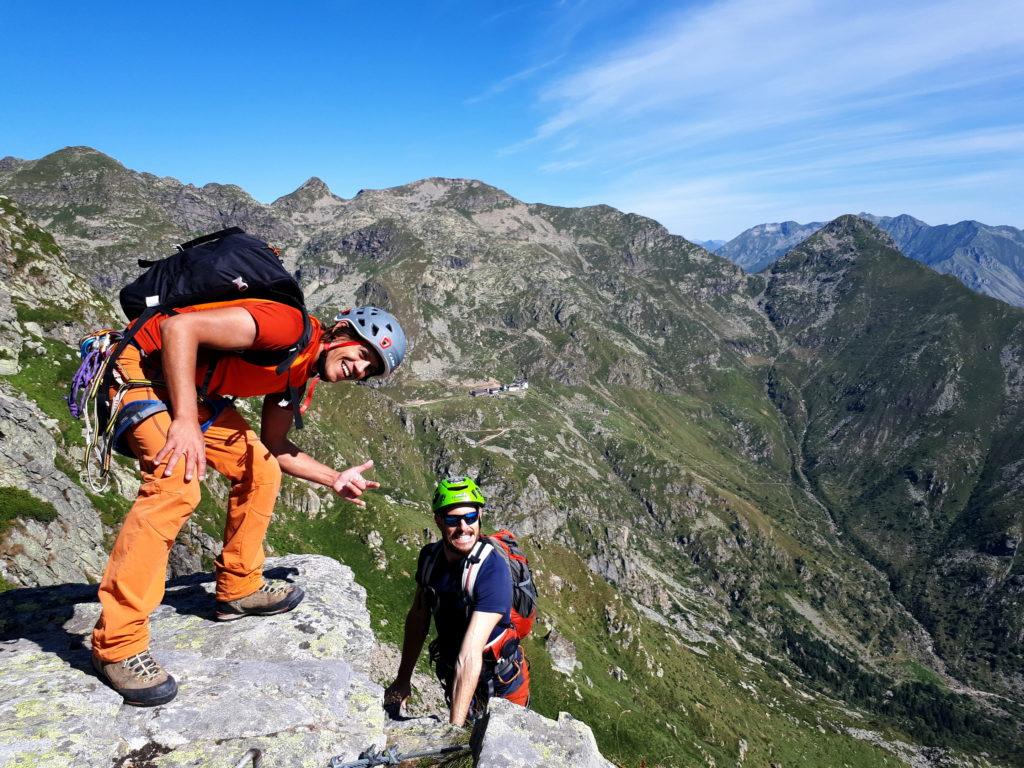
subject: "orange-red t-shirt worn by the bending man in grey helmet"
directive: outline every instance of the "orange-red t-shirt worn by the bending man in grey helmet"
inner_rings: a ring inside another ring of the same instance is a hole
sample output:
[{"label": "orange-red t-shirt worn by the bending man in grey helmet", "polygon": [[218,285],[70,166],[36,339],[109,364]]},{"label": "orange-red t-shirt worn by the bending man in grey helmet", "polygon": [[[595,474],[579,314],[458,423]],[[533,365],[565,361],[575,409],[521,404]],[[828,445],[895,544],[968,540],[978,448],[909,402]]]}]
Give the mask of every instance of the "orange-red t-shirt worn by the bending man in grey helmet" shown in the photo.
[{"label": "orange-red t-shirt worn by the bending man in grey helmet", "polygon": [[[181,307],[177,311],[201,312],[204,309],[222,309],[240,306],[252,315],[256,323],[256,339],[252,350],[289,349],[302,337],[302,312],[288,304],[267,299],[236,299],[210,304],[196,304]],[[135,334],[135,343],[146,357],[147,368],[159,368],[160,350],[163,340],[160,324],[169,314],[157,314]],[[276,373],[276,366],[258,366],[248,362],[238,352],[200,349],[196,361],[196,386],[201,387],[207,371],[215,365],[207,392],[212,395],[233,395],[253,397],[263,394],[285,392],[289,386],[301,388],[307,380],[316,375],[316,360],[324,331],[315,317],[310,317],[312,334],[309,343],[299,352],[285,373]]]}]

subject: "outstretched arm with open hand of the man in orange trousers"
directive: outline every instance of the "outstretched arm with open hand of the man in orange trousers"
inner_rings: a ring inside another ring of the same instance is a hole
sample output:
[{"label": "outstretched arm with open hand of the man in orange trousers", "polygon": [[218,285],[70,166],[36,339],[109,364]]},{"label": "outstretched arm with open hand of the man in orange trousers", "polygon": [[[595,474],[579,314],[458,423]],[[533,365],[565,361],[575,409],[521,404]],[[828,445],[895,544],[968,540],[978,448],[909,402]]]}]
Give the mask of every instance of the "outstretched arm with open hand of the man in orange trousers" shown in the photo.
[{"label": "outstretched arm with open hand of the man in orange trousers", "polygon": [[380,483],[368,480],[364,472],[373,468],[373,461],[368,461],[339,472],[322,464],[298,445],[288,439],[288,431],[292,428],[292,411],[278,404],[280,395],[267,395],[263,398],[263,412],[260,419],[260,440],[273,454],[281,465],[282,472],[300,477],[303,480],[327,485],[336,494],[358,507],[367,503],[359,497],[365,490],[379,488]]}]

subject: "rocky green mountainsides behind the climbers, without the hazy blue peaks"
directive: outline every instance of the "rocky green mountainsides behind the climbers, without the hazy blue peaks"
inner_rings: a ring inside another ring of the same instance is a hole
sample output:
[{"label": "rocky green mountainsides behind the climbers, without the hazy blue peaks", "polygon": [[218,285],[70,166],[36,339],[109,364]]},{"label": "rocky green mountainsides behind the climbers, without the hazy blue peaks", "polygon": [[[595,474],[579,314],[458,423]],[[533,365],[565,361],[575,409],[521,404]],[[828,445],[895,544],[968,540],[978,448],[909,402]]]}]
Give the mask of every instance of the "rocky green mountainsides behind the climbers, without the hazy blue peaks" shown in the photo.
[{"label": "rocky green mountainsides behind the climbers, without the hazy blue peaks", "polygon": [[[350,565],[382,640],[400,639],[432,483],[471,474],[538,572],[536,706],[586,720],[612,760],[1022,764],[1024,311],[865,218],[749,274],[642,216],[468,179],[346,200],[313,178],[266,205],[71,147],[0,161],[0,394],[41,413],[18,417],[24,445],[0,439],[26,510],[0,526],[9,587],[94,578],[82,563],[132,496],[126,465],[60,504],[76,334],[117,323],[139,257],[240,225],[284,247],[314,313],[378,303],[413,340],[381,386],[317,392],[297,437],[374,458],[381,493],[361,511],[286,482],[269,535]],[[24,458],[47,439],[52,465]],[[204,562],[226,492],[207,485],[180,542]]]}]

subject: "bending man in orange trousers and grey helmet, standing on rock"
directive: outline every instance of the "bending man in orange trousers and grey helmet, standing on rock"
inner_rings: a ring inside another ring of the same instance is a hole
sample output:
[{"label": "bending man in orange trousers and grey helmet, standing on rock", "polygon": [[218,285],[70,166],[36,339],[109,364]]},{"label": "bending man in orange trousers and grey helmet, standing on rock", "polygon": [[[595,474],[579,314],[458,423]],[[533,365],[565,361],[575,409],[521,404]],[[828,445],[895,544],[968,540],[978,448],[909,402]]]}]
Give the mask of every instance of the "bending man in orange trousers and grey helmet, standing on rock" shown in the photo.
[{"label": "bending man in orange trousers and grey helmet, standing on rock", "polygon": [[[308,344],[283,373],[260,364],[302,337],[302,312],[259,299],[158,314],[115,361],[114,410],[131,403],[156,409],[124,435],[139,461],[142,484],[103,573],[102,612],[92,635],[94,667],[127,703],[166,703],[177,692],[174,678],[150,653],[148,617],[163,599],[168,554],[199,504],[207,465],[230,482],[216,561],[219,621],[281,613],[302,600],[301,588],[265,583],[262,574],[263,539],[283,471],[358,506],[366,506],[364,492],[380,486],[364,477],[372,461],[337,471],[291,442],[293,407],[283,396],[287,391],[298,397],[309,380],[314,386],[389,374],[404,356],[404,334],[376,307],[345,310],[328,330],[310,322]],[[251,352],[232,354],[243,350]],[[311,394],[310,388],[306,406]],[[265,396],[259,436],[222,399],[228,395]]]}]

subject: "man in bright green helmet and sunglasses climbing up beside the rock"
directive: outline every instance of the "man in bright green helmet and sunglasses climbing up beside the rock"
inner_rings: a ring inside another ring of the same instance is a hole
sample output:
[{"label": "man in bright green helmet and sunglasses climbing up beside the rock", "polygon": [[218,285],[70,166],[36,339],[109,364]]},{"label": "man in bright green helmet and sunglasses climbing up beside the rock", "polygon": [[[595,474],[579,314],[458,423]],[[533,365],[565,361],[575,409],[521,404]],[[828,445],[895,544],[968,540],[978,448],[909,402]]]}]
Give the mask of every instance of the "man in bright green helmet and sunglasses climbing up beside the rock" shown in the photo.
[{"label": "man in bright green helmet and sunglasses climbing up beside the rock", "polygon": [[512,624],[512,574],[495,547],[480,537],[485,500],[468,477],[443,480],[433,504],[440,541],[420,551],[416,596],[406,616],[401,664],[384,693],[400,708],[412,691],[413,670],[433,615],[437,637],[430,660],[444,685],[450,722],[463,725],[492,696],[529,703],[529,667]]}]

